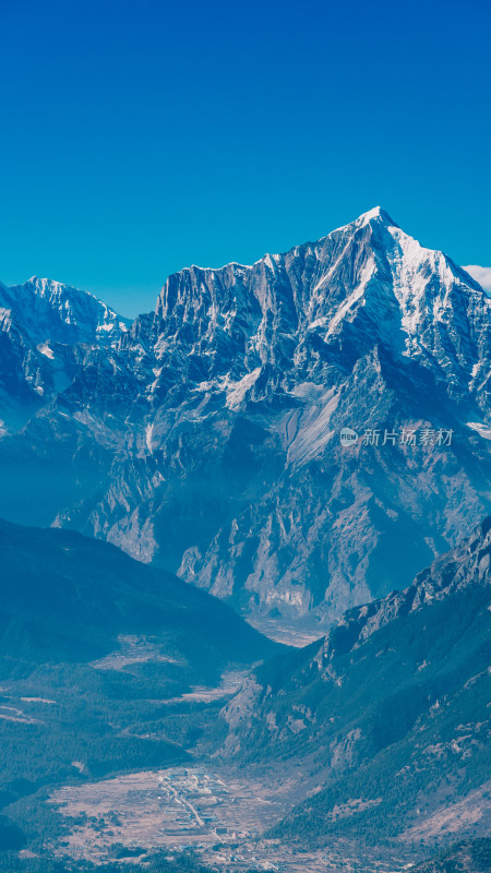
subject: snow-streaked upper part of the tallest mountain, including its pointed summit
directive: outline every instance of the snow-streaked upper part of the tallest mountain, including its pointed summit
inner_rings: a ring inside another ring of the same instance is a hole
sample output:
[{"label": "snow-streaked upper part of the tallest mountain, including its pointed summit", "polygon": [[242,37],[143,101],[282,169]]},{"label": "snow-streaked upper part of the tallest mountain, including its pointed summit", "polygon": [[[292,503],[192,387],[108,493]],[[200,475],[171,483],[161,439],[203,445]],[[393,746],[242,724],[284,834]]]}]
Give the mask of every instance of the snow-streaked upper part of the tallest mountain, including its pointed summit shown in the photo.
[{"label": "snow-streaked upper part of the tallest mountain, including its pointed summit", "polygon": [[173,274],[157,303],[154,336],[160,362],[192,347],[201,382],[221,378],[232,362],[236,381],[267,362],[288,371],[288,361],[310,379],[321,363],[319,354],[309,359],[312,343],[352,366],[379,342],[396,358],[424,367],[438,361],[441,378],[466,393],[488,306],[450,258],[421,246],[376,206],[250,267]]}]

